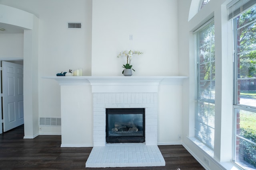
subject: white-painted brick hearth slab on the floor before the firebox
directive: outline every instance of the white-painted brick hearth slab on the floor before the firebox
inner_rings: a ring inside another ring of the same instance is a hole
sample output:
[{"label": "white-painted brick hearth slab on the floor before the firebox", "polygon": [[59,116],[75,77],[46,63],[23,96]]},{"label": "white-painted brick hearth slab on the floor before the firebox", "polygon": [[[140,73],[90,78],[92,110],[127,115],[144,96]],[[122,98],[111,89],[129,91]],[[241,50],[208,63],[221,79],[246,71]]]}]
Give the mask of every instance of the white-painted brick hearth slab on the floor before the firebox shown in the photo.
[{"label": "white-painted brick hearth slab on the floor before the firebox", "polygon": [[93,147],[86,161],[87,168],[140,166],[165,166],[157,145],[108,144]]}]

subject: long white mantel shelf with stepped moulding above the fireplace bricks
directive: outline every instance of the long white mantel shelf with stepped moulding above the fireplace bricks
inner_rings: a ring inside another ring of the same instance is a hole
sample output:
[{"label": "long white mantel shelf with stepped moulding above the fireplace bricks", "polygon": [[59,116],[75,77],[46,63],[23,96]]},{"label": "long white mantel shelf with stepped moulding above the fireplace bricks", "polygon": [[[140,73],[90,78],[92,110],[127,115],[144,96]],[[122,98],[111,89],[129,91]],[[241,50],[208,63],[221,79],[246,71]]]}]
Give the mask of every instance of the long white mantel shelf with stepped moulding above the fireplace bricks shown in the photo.
[{"label": "long white mantel shelf with stepped moulding above the fireplace bricks", "polygon": [[182,85],[188,76],[45,76],[60,86],[91,85],[93,93],[157,92],[158,85]]}]

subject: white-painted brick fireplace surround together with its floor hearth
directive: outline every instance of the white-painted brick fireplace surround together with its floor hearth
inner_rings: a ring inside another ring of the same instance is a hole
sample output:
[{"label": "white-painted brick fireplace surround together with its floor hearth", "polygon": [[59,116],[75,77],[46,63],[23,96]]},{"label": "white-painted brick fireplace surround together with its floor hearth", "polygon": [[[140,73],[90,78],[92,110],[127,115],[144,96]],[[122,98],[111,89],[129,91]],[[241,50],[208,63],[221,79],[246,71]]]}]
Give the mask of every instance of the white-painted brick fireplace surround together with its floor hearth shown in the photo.
[{"label": "white-painted brick fireplace surround together with its floor hearth", "polygon": [[[156,92],[94,93],[94,147],[86,161],[86,167],[165,166],[164,158],[157,146],[157,101]],[[106,144],[106,108],[145,108],[146,142]]]}]

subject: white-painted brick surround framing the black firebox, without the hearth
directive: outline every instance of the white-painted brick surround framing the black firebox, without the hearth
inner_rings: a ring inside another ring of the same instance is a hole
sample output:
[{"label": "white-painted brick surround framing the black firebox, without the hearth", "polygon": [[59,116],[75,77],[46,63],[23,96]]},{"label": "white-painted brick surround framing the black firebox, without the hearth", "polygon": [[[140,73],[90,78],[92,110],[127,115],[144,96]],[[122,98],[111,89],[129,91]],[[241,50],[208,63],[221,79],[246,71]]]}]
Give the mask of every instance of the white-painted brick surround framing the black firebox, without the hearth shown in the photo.
[{"label": "white-painted brick surround framing the black firebox, without the hearth", "polygon": [[106,145],[106,108],[145,108],[145,144],[157,145],[156,93],[94,93],[93,143]]}]

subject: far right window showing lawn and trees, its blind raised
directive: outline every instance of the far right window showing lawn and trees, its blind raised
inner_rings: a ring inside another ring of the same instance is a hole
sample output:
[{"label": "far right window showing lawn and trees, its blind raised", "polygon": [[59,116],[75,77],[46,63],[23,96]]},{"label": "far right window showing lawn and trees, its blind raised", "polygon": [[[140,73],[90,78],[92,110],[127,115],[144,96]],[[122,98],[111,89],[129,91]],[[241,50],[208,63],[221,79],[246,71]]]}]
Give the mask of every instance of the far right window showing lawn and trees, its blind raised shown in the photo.
[{"label": "far right window showing lawn and trees, its blind raised", "polygon": [[243,168],[256,169],[256,6],[239,14],[233,21],[233,160]]}]

